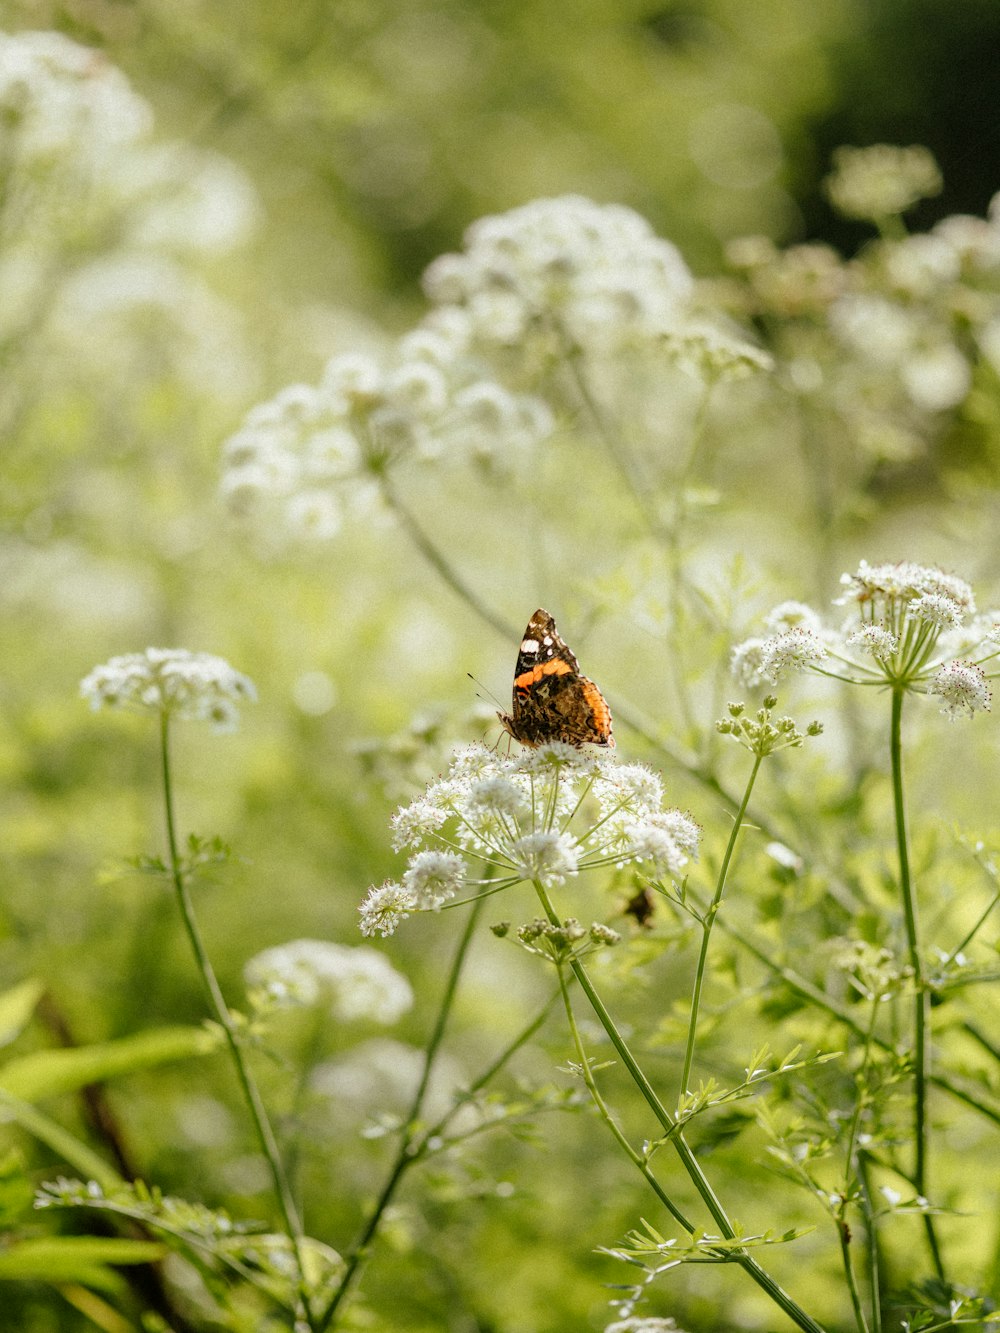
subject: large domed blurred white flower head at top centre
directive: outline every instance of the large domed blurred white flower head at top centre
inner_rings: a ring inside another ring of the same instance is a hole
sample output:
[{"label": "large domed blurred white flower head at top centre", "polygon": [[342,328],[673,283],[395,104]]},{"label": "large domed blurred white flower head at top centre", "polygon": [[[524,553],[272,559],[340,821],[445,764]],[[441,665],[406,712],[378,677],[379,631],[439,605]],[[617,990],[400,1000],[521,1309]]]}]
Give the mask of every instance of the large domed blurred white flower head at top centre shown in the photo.
[{"label": "large domed blurred white flower head at top centre", "polygon": [[460,255],[424,275],[439,307],[459,308],[476,343],[544,365],[567,348],[645,341],[685,316],[693,280],[680,252],[639,213],[577,195],[481,217]]}]

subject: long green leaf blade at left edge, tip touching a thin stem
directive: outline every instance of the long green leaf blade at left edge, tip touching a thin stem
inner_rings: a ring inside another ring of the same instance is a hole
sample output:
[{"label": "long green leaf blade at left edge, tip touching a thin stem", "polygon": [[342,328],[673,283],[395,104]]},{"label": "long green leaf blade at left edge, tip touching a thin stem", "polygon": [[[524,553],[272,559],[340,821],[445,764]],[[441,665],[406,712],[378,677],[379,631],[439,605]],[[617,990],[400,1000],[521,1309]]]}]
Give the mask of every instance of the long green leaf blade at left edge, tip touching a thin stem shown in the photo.
[{"label": "long green leaf blade at left edge, tip touching a thin stem", "polygon": [[41,1101],[88,1084],[104,1082],[171,1060],[189,1060],[216,1049],[204,1028],[151,1028],[119,1041],[68,1050],[39,1050],[0,1066],[0,1092]]}]

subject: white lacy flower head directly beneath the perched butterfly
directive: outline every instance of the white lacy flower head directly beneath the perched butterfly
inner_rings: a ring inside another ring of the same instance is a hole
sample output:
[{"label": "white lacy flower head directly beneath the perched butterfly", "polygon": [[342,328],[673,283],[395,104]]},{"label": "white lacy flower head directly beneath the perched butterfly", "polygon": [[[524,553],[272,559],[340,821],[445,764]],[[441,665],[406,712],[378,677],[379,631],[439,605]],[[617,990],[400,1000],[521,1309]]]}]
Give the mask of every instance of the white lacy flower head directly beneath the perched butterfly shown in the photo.
[{"label": "white lacy flower head directly beneath the perched butterfly", "polygon": [[508,757],[471,745],[392,822],[409,864],[401,881],[371,889],[361,904],[367,936],[392,934],[411,913],[459,894],[521,881],[549,889],[596,866],[681,874],[701,836],[691,816],[664,809],[652,769],[561,742]]}]

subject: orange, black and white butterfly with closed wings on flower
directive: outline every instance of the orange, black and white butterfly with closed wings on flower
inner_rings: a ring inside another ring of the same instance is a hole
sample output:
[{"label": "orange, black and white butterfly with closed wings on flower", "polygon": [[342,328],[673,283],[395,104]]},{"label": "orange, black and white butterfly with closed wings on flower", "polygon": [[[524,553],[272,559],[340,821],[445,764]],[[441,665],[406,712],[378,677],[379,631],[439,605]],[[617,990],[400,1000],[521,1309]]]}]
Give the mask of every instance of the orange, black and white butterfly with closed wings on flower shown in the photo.
[{"label": "orange, black and white butterfly with closed wings on flower", "polygon": [[521,745],[613,745],[611,709],[559,636],[547,611],[535,612],[524,631],[513,672],[513,704],[496,714]]}]

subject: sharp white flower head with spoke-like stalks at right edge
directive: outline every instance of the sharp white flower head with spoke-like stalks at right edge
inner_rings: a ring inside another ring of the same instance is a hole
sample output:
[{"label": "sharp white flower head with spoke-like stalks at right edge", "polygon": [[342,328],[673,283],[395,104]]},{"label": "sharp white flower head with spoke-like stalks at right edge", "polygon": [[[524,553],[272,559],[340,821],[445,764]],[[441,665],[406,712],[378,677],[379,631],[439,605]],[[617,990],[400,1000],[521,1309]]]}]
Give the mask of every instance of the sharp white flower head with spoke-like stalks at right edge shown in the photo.
[{"label": "sharp white flower head with spoke-like stalks at right edge", "polygon": [[1000,655],[1000,612],[976,615],[964,579],[913,561],[869,565],[843,575],[836,605],[849,608],[839,629],[799,603],[768,617],[767,637],[732,651],[733,672],[747,685],[788,672],[817,669],[853,682],[884,682],[936,694],[949,717],[988,712],[989,674]]}]

